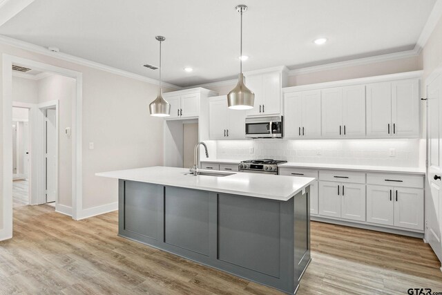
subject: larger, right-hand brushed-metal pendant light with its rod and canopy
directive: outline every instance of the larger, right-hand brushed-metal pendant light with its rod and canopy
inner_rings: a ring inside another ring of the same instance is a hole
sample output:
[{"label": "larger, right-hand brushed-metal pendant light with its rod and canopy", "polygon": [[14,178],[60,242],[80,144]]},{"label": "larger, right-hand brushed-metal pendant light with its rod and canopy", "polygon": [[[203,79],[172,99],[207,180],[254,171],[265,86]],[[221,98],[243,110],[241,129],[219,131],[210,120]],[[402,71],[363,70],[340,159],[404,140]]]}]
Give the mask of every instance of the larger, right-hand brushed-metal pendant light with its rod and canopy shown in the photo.
[{"label": "larger, right-hand brushed-metal pendant light with its rod and canopy", "polygon": [[244,75],[242,75],[242,13],[247,10],[247,6],[238,5],[236,11],[241,15],[241,46],[240,46],[240,75],[238,77],[238,84],[227,95],[227,104],[229,108],[235,110],[248,110],[253,108],[255,103],[255,93],[250,91],[244,84]]}]

